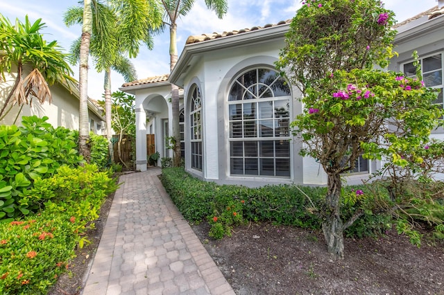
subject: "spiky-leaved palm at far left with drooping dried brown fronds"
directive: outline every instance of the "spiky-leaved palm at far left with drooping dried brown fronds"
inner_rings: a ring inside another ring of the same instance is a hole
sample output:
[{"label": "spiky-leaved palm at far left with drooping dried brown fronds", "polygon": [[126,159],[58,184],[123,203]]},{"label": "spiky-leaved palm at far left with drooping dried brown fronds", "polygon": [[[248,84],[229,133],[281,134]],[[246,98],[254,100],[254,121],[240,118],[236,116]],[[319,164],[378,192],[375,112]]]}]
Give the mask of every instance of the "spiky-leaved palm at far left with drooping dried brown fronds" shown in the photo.
[{"label": "spiky-leaved palm at far left with drooping dried brown fronds", "polygon": [[[68,55],[61,52],[56,41],[46,43],[39,33],[42,28],[42,19],[31,24],[26,15],[24,23],[16,19],[12,25],[8,18],[0,15],[0,72],[3,80],[5,73],[12,73],[15,71],[13,66],[17,67],[15,82],[0,108],[0,120],[13,105],[23,106],[31,103],[33,98],[40,103],[51,102],[49,85],[55,82],[74,85]],[[24,67],[30,69],[26,76]]]}]

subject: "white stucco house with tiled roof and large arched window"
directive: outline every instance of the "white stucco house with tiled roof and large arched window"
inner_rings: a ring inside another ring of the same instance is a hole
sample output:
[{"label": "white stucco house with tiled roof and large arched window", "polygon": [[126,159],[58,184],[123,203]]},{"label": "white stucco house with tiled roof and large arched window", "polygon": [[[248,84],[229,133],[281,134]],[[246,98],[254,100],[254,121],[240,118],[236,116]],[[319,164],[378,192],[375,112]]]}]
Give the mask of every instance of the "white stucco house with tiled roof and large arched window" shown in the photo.
[{"label": "white stucco house with tiled roof and large arched window", "polygon": [[[302,111],[300,91],[275,71],[290,22],[190,36],[171,75],[123,84],[121,90],[136,100],[137,169],[146,170],[146,134],[156,134],[157,151],[171,157],[164,147],[172,133],[173,83],[183,89],[180,119],[187,172],[219,184],[327,184],[321,165],[299,155],[301,143],[290,132],[291,120]],[[436,32],[444,18],[426,16],[415,24],[408,21],[397,28],[395,50],[400,56],[391,69],[407,71],[416,49],[421,58],[434,57],[439,78],[428,86],[442,89],[444,35]],[[425,71],[426,83],[428,74]],[[443,104],[442,93],[437,103]],[[360,183],[380,166],[359,159],[345,178],[349,184]]]}]

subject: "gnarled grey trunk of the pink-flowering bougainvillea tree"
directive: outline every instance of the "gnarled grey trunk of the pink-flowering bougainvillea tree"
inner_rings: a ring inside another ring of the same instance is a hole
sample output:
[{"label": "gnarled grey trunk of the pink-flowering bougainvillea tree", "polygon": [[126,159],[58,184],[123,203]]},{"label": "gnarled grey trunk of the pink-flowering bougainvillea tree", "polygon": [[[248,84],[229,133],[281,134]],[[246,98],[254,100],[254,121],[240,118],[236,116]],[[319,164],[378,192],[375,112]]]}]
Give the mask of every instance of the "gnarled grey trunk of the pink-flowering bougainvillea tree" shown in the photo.
[{"label": "gnarled grey trunk of the pink-flowering bougainvillea tree", "polygon": [[341,175],[334,173],[328,174],[328,191],[325,198],[327,210],[323,218],[322,231],[324,233],[325,242],[327,243],[327,251],[339,258],[344,257],[344,237],[343,237],[343,221],[340,216],[341,197]]}]

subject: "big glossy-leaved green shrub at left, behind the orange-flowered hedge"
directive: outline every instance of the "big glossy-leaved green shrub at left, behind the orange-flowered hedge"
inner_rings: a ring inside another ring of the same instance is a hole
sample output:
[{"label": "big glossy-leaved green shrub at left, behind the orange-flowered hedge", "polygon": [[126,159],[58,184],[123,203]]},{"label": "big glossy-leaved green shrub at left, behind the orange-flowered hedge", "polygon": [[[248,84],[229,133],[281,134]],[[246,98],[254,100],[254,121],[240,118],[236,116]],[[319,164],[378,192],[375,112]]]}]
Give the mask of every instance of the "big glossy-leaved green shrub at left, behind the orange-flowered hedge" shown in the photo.
[{"label": "big glossy-leaved green shrub at left, behind the orange-flowered hedge", "polygon": [[45,122],[48,117],[22,119],[23,127],[0,125],[0,220],[29,214],[35,208],[19,204],[19,199],[33,182],[82,161],[77,132],[54,129]]}]

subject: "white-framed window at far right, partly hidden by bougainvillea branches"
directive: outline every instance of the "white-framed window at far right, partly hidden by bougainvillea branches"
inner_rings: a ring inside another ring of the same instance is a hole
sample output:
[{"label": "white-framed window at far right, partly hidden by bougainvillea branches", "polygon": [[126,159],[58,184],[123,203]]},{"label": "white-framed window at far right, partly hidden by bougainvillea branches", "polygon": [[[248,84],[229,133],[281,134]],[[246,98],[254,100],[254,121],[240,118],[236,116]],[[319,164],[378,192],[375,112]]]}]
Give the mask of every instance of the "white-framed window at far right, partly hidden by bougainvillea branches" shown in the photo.
[{"label": "white-framed window at far right, partly hidden by bougainvillea branches", "polygon": [[[443,53],[426,55],[418,59],[418,62],[421,66],[420,71],[425,87],[440,89],[438,98],[434,100],[434,103],[443,107]],[[413,62],[403,64],[403,71],[407,77],[416,76],[416,67],[413,66]]]}]

